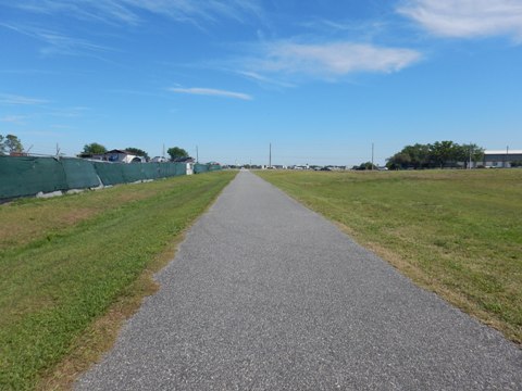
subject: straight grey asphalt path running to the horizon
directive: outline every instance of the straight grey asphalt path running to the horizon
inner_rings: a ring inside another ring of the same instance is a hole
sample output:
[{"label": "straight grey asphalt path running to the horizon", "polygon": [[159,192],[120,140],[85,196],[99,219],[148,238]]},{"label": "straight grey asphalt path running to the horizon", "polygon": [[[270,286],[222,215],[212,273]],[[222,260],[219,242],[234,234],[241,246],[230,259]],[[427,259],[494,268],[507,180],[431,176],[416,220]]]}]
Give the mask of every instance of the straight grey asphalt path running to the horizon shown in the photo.
[{"label": "straight grey asphalt path running to the horizon", "polygon": [[85,390],[521,390],[522,351],[241,172]]}]

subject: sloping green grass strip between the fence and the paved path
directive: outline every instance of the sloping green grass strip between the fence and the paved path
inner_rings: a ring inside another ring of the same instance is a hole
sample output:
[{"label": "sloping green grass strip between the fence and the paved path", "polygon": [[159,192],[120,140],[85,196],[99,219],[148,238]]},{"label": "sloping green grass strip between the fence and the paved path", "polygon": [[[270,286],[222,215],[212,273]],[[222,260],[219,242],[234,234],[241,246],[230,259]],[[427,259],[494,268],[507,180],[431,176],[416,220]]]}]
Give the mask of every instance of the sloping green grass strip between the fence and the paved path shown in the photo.
[{"label": "sloping green grass strip between the fence and the paved path", "polygon": [[70,387],[234,175],[0,205],[0,389]]}]

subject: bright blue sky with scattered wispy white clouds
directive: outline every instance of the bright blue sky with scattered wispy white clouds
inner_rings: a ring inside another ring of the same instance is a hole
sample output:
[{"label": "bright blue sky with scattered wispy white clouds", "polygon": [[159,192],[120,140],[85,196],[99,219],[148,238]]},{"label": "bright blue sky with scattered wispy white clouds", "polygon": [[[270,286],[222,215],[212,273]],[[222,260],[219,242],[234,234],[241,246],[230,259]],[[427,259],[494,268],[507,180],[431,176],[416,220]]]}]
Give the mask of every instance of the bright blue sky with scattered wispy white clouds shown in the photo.
[{"label": "bright blue sky with scattered wispy white clouds", "polygon": [[201,161],[522,149],[522,0],[0,0],[0,134]]}]

